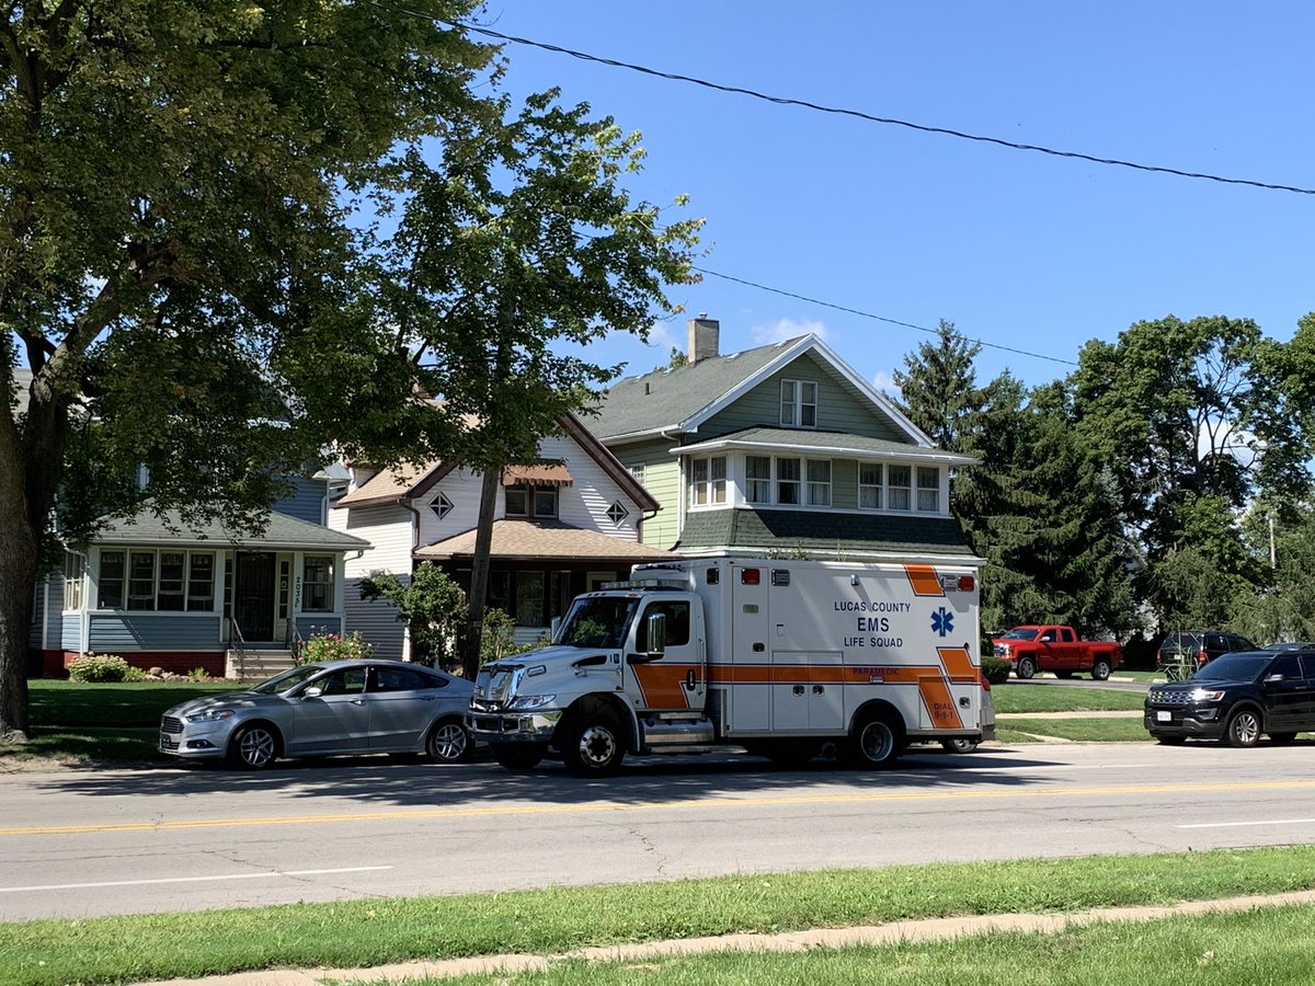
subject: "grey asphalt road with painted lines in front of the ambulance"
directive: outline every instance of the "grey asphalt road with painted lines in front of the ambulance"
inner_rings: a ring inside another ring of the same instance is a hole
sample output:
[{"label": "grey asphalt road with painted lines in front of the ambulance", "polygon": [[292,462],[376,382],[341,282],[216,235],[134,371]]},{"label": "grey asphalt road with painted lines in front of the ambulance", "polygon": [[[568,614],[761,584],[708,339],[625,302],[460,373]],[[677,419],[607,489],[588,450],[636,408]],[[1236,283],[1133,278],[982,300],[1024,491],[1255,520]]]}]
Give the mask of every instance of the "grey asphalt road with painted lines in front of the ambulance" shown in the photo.
[{"label": "grey asphalt road with painted lines in front of the ambulance", "polygon": [[608,781],[376,757],[9,774],[0,920],[1304,843],[1312,759],[1091,743],[915,747],[876,773],[650,759]]}]

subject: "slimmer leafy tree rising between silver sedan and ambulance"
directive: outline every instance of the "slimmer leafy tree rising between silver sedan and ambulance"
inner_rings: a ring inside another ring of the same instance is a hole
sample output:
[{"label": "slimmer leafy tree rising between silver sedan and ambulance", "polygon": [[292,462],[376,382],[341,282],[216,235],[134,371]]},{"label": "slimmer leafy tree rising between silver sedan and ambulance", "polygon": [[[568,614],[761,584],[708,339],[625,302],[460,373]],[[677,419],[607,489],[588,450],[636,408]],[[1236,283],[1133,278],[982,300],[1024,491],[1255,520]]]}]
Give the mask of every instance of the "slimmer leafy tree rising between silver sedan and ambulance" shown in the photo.
[{"label": "slimmer leafy tree rising between silver sedan and ambulance", "polygon": [[[661,222],[622,181],[639,170],[639,134],[556,92],[497,124],[454,128],[441,160],[406,159],[417,189],[370,263],[387,285],[371,321],[396,326],[417,387],[458,458],[484,486],[471,571],[464,672],[479,668],[489,546],[502,471],[538,460],[565,411],[586,413],[621,367],[589,359],[608,333],[646,338],[676,309],[665,284],[694,280],[700,220]],[[684,200],[677,200],[677,205]],[[433,447],[434,442],[430,442]]]}]

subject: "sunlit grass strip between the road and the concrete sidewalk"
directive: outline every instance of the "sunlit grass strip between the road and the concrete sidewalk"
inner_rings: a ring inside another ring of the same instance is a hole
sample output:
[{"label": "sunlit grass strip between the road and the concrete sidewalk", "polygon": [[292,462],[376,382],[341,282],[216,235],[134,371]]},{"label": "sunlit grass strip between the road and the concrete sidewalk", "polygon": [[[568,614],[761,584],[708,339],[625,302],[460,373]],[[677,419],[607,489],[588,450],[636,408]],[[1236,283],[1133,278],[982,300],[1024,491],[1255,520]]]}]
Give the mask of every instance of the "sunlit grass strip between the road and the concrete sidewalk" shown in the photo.
[{"label": "sunlit grass strip between the road and the concrete sidewalk", "polygon": [[0,986],[1072,911],[1315,887],[1315,847],[823,870],[506,894],[394,898],[0,924]]}]

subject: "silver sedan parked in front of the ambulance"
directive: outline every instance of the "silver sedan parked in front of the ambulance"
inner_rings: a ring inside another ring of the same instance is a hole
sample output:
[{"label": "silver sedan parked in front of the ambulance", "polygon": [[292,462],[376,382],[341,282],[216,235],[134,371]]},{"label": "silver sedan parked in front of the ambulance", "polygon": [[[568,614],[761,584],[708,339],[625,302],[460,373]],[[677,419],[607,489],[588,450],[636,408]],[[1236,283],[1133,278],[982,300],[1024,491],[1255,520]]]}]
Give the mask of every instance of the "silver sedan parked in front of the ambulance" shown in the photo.
[{"label": "silver sedan parked in front of the ambulance", "polygon": [[263,768],[279,757],[473,749],[464,715],[475,686],[434,668],[388,660],[302,664],[246,692],[193,698],[164,713],[159,751]]}]

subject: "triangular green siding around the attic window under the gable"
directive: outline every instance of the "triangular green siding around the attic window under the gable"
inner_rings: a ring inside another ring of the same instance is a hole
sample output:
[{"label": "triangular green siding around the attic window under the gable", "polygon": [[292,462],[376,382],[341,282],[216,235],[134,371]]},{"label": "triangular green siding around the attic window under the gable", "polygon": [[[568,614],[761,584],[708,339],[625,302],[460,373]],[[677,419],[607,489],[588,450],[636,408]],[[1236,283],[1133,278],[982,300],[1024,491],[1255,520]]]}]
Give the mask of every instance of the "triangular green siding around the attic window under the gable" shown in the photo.
[{"label": "triangular green siding around the attic window under the gable", "polygon": [[700,426],[697,435],[690,436],[692,440],[706,440],[753,426],[780,427],[781,380],[806,380],[818,385],[818,430],[913,444],[885,414],[868,401],[859,400],[807,352],[752,388],[730,408],[714,414]]}]

